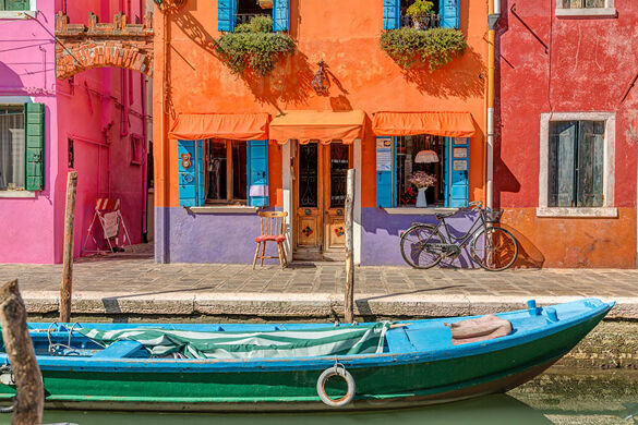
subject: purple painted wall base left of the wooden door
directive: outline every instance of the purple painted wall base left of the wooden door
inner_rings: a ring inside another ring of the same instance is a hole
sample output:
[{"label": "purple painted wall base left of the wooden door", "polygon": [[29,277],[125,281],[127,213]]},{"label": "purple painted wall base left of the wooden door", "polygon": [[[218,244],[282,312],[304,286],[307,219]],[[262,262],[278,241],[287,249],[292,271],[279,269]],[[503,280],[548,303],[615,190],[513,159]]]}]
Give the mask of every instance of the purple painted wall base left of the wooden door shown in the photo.
[{"label": "purple painted wall base left of the wooden door", "polygon": [[[156,221],[156,229],[160,230],[156,231],[156,247],[164,250],[156,254],[159,263],[253,262],[255,238],[260,235],[256,214],[193,214],[186,208],[157,207],[155,217],[164,218],[166,223],[162,228],[162,221]],[[266,255],[277,255],[276,243],[268,242]],[[266,263],[279,264],[279,259],[266,259]]]}]

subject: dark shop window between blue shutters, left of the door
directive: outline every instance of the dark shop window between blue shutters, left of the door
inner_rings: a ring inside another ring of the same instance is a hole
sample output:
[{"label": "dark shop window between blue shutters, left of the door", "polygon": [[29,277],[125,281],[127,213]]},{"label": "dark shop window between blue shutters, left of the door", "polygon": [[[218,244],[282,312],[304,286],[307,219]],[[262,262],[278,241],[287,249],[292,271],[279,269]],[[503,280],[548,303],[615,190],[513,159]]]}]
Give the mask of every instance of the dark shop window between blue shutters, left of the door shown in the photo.
[{"label": "dark shop window between blue shutters, left of the door", "polygon": [[213,138],[206,142],[206,202],[246,204],[246,143]]}]

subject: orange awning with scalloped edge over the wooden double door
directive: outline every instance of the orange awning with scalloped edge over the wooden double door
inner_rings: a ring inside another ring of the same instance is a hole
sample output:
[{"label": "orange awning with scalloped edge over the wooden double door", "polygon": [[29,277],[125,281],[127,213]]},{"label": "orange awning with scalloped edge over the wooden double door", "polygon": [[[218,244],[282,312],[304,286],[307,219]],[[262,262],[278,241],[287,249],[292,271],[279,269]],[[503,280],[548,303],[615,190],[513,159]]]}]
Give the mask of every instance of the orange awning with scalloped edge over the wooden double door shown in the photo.
[{"label": "orange awning with scalloped edge over the wooden double door", "polygon": [[363,133],[363,111],[285,111],[270,122],[270,139],[285,144],[293,138],[300,143],[332,141],[352,143]]}]

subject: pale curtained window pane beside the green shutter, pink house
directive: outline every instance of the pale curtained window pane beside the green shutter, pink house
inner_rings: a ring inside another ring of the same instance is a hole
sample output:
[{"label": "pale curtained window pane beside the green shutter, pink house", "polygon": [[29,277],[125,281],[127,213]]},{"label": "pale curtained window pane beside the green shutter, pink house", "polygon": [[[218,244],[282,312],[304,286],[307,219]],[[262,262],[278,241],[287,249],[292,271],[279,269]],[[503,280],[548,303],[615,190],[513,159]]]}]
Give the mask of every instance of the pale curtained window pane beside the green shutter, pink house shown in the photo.
[{"label": "pale curtained window pane beside the green shutter, pink house", "polygon": [[24,189],[24,113],[0,111],[0,190]]}]

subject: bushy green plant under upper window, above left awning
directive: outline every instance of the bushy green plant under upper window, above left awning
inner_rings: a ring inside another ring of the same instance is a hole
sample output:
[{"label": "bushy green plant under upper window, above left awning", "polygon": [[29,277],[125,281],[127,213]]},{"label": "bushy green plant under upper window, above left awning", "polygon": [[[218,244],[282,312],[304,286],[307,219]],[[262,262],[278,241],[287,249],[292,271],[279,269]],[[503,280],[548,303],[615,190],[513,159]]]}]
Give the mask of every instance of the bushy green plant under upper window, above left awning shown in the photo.
[{"label": "bushy green plant under upper window, above left awning", "polygon": [[287,34],[272,31],[270,17],[255,16],[250,23],[238,25],[234,33],[224,34],[215,50],[236,74],[250,68],[266,76],[284,54],[294,52],[294,41]]}]

